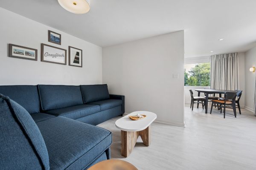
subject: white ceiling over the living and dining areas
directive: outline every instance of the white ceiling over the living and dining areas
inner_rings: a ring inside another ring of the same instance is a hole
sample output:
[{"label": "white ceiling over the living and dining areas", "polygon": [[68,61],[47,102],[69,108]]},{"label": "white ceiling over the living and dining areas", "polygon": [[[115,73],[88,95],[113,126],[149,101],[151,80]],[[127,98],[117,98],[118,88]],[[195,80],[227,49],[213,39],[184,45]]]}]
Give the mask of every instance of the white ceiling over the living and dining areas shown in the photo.
[{"label": "white ceiling over the living and dining areas", "polygon": [[90,2],[91,10],[82,15],[64,10],[58,0],[5,0],[0,6],[102,47],[178,30],[185,30],[185,57],[256,45],[256,0]]}]

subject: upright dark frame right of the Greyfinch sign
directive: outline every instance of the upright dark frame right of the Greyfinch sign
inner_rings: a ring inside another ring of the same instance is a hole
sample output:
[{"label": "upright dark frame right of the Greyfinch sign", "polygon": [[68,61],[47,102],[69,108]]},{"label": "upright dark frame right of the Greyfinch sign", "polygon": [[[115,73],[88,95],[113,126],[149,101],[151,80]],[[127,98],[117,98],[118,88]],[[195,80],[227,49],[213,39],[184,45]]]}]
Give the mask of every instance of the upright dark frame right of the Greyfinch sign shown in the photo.
[{"label": "upright dark frame right of the Greyfinch sign", "polygon": [[68,65],[83,67],[83,51],[79,48],[68,46],[69,59]]}]

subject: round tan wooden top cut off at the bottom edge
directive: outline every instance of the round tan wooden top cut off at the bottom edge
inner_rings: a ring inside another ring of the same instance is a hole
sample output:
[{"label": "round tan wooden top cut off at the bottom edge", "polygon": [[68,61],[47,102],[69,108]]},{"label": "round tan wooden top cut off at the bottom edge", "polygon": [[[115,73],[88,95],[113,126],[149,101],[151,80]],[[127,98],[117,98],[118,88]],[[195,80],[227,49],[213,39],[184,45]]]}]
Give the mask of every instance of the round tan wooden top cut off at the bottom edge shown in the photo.
[{"label": "round tan wooden top cut off at the bottom edge", "polygon": [[88,170],[138,170],[134,165],[119,159],[108,159],[101,161]]}]

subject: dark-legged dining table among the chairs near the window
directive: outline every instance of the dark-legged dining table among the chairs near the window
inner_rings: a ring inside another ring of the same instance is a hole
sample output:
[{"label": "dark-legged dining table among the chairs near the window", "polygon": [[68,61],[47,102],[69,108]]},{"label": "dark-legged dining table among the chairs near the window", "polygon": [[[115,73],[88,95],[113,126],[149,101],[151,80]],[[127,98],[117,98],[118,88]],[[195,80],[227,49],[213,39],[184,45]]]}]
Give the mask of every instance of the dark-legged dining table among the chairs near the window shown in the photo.
[{"label": "dark-legged dining table among the chairs near the window", "polygon": [[[207,113],[208,110],[208,97],[209,94],[219,94],[219,96],[221,97],[221,94],[225,94],[226,92],[237,92],[237,91],[229,91],[229,90],[216,90],[216,89],[195,89],[195,91],[198,92],[198,96],[200,96],[200,93],[204,93],[205,94],[205,113]],[[199,103],[197,105],[197,108],[199,106]]]}]

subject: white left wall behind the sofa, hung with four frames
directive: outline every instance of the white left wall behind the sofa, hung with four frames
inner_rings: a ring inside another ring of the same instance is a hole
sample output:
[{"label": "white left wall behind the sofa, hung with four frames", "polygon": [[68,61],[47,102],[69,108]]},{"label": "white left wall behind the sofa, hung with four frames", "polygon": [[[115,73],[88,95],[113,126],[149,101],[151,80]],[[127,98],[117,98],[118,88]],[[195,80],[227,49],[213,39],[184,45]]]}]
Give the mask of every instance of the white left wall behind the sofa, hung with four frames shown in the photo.
[{"label": "white left wall behind the sofa, hung with four frames", "polygon": [[[102,48],[0,8],[0,85],[101,84]],[[61,45],[48,42],[48,30]],[[38,61],[8,57],[8,44],[38,49]],[[67,65],[41,62],[41,43],[67,50]],[[68,46],[83,50],[83,67],[68,66]]]}]

